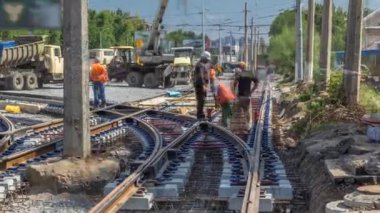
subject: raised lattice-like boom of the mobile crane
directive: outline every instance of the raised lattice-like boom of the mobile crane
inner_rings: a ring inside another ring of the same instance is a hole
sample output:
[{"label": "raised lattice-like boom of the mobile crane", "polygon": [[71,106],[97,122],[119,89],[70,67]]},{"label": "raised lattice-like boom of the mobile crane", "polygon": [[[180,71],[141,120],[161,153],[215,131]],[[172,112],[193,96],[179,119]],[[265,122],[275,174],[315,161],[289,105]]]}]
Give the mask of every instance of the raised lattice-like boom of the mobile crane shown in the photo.
[{"label": "raised lattice-like boom of the mobile crane", "polygon": [[152,31],[150,33],[149,42],[146,49],[149,55],[159,55],[158,47],[159,47],[159,42],[160,42],[161,23],[162,23],[166,8],[168,6],[168,2],[169,0],[160,1],[160,5],[157,11],[156,18],[153,22]]}]

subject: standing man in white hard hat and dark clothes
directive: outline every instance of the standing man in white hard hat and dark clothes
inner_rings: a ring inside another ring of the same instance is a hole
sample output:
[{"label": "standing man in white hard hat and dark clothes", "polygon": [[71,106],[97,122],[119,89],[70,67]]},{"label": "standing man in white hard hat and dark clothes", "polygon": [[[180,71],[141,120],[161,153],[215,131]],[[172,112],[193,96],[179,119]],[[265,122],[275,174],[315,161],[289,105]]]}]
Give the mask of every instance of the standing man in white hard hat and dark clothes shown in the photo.
[{"label": "standing man in white hard hat and dark clothes", "polygon": [[195,97],[197,100],[197,118],[205,120],[204,105],[207,97],[207,89],[209,85],[209,70],[208,63],[211,60],[211,54],[204,51],[201,55],[201,59],[195,65],[194,70],[194,89]]}]

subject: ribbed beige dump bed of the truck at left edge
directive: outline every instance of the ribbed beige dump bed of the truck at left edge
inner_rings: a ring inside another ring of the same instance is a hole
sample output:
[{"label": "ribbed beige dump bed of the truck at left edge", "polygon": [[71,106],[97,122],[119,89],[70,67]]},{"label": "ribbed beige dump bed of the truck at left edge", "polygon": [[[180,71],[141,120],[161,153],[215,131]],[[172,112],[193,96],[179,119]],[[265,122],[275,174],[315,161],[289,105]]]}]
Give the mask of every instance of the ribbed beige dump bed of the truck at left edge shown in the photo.
[{"label": "ribbed beige dump bed of the truck at left edge", "polygon": [[15,44],[3,42],[0,47],[0,67],[16,67],[39,60],[44,46],[43,36],[20,36]]}]

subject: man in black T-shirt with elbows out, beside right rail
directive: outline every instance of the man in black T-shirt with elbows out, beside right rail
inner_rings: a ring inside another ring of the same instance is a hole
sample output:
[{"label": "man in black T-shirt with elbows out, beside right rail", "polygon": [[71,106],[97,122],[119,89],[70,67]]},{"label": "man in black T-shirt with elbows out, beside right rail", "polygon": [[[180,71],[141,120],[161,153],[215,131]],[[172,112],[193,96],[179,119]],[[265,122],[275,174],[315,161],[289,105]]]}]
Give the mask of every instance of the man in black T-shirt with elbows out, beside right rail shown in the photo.
[{"label": "man in black T-shirt with elbows out, beside right rail", "polygon": [[[253,83],[253,85],[252,85]],[[239,68],[235,70],[234,91],[237,89],[237,108],[243,111],[246,120],[247,130],[251,128],[252,109],[251,94],[257,88],[259,80],[253,73],[246,71],[246,64],[240,62]]]}]

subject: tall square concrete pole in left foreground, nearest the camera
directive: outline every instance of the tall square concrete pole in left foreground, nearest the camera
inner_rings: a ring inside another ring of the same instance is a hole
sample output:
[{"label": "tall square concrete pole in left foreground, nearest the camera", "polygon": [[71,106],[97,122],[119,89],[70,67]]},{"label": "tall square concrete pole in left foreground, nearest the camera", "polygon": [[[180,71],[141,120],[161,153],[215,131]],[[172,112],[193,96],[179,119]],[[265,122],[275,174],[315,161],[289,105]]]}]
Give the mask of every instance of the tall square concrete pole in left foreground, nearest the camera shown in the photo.
[{"label": "tall square concrete pole in left foreground, nearest the camera", "polygon": [[64,157],[91,154],[89,123],[88,1],[63,2]]}]

